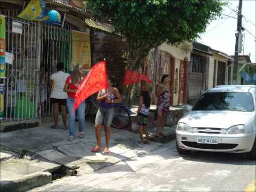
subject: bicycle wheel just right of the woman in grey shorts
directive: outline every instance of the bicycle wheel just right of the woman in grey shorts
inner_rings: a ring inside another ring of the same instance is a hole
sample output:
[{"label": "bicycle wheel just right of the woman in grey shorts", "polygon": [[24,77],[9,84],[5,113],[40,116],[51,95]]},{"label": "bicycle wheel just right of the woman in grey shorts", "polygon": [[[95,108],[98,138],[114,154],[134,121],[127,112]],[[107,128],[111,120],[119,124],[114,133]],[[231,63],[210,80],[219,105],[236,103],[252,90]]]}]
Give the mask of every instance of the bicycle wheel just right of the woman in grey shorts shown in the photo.
[{"label": "bicycle wheel just right of the woman in grey shorts", "polygon": [[121,106],[115,106],[114,109],[115,116],[111,125],[119,129],[125,129],[131,122],[129,111]]}]

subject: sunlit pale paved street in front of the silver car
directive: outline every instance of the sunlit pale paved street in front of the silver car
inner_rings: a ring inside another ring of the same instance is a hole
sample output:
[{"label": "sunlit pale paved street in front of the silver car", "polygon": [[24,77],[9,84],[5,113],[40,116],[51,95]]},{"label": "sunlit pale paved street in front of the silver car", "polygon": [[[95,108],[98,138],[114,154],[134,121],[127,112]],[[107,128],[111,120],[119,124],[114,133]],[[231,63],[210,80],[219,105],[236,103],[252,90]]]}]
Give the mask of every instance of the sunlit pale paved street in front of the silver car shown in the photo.
[{"label": "sunlit pale paved street in front of the silver car", "polygon": [[31,191],[255,191],[255,168],[255,161],[240,154],[180,156],[172,141],[149,154]]}]

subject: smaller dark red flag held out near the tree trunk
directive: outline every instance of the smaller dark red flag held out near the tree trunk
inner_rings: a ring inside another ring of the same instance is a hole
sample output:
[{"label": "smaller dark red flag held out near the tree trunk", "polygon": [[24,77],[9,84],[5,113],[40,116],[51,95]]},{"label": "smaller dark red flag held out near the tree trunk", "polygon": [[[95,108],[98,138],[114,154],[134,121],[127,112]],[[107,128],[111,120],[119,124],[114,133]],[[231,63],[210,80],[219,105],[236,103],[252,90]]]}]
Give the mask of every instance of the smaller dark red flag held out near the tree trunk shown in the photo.
[{"label": "smaller dark red flag held out near the tree trunk", "polygon": [[127,69],[124,75],[124,85],[130,85],[133,83],[138,83],[140,81],[147,81],[149,83],[153,83],[153,81],[147,77],[145,74],[141,74],[138,71],[133,71]]}]

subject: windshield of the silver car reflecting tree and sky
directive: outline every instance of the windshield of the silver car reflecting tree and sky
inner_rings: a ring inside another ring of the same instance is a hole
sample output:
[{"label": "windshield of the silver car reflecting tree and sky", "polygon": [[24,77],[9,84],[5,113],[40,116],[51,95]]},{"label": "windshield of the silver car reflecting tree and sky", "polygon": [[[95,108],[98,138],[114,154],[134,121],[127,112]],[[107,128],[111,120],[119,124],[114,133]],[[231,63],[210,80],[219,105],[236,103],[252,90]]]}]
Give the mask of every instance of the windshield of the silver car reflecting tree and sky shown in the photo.
[{"label": "windshield of the silver car reflecting tree and sky", "polygon": [[192,110],[253,111],[253,98],[251,93],[244,92],[205,93]]}]

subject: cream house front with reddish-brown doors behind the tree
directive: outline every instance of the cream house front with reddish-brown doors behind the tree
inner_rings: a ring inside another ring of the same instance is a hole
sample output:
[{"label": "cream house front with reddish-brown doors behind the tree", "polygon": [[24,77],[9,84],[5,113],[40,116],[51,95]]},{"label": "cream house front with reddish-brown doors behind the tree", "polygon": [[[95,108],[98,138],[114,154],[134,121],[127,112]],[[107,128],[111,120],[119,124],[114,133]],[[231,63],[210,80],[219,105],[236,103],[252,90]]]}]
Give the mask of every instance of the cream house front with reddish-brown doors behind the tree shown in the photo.
[{"label": "cream house front with reddish-brown doors behind the tree", "polygon": [[[157,50],[157,54],[156,54]],[[187,103],[188,94],[188,67],[190,61],[190,52],[192,46],[190,43],[181,43],[179,46],[173,46],[163,43],[156,49],[152,49],[148,55],[147,62],[143,68],[143,73],[151,79],[156,79],[159,83],[164,74],[170,75],[171,105],[180,105]],[[154,65],[154,62],[156,64]],[[156,77],[154,78],[154,66],[156,67]],[[148,84],[147,90],[151,92],[153,103],[156,103],[155,97],[156,84]]]}]

